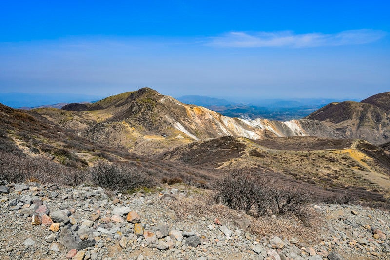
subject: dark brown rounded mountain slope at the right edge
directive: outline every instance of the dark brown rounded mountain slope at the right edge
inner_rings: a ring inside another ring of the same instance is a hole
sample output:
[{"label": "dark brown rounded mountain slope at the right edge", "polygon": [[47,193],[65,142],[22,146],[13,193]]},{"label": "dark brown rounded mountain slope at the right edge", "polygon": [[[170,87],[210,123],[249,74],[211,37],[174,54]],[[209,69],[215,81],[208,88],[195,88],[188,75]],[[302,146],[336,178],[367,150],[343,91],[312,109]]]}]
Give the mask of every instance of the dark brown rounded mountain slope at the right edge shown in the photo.
[{"label": "dark brown rounded mountain slope at the right edge", "polygon": [[319,120],[348,138],[382,144],[390,138],[390,92],[371,96],[361,102],[331,103],[307,119]]}]

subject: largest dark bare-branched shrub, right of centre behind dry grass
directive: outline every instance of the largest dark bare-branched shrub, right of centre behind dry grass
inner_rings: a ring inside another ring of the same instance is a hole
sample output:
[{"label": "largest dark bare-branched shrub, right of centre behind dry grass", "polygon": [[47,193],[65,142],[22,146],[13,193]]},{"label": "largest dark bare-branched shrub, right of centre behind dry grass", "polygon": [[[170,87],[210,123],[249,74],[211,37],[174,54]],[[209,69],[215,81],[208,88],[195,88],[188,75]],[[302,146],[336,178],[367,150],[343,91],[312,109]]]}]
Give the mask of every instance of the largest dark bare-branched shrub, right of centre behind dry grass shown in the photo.
[{"label": "largest dark bare-branched shrub, right of centre behind dry grass", "polygon": [[257,216],[292,213],[304,220],[312,199],[312,194],[302,187],[283,186],[244,170],[226,174],[216,181],[214,189],[217,203]]}]

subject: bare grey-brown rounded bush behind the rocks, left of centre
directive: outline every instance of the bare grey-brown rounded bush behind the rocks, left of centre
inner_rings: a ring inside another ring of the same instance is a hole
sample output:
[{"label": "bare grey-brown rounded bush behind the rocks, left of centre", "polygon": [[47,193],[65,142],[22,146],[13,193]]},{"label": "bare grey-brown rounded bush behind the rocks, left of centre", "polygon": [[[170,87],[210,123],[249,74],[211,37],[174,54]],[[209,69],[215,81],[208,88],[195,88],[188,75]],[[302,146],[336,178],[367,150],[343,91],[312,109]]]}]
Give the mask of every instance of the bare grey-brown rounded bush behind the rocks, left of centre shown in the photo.
[{"label": "bare grey-brown rounded bush behind the rocks, left of centre", "polygon": [[128,191],[140,187],[153,187],[156,182],[141,167],[98,161],[89,170],[93,184],[111,190]]}]

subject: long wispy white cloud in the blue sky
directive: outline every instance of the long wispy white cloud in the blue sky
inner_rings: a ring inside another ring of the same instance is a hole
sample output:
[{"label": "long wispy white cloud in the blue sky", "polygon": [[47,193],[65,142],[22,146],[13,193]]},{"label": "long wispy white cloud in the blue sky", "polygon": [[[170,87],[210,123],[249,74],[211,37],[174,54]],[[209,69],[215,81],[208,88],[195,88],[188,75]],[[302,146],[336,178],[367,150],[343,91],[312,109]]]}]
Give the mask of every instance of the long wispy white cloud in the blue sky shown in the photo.
[{"label": "long wispy white cloud in the blue sky", "polygon": [[349,30],[335,34],[310,33],[295,34],[291,31],[281,32],[230,32],[213,37],[207,45],[216,47],[292,47],[308,48],[320,46],[342,46],[366,44],[385,37],[381,30]]}]

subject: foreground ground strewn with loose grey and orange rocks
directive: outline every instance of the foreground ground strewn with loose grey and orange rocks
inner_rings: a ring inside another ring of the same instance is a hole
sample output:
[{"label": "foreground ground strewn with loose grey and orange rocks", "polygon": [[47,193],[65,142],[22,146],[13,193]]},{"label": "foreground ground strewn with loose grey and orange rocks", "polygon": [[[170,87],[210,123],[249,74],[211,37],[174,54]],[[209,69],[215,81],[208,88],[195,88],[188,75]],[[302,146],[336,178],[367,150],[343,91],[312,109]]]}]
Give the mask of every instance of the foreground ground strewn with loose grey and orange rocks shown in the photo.
[{"label": "foreground ground strewn with loose grey and orange rocks", "polygon": [[[311,205],[315,224],[301,232],[293,222],[273,228],[272,223],[281,223],[275,216],[256,231],[254,217],[221,205],[217,210],[202,206],[206,195],[188,186],[125,195],[85,185],[1,185],[4,260],[390,257],[390,215],[378,209]],[[292,232],[278,233],[283,225]]]}]

